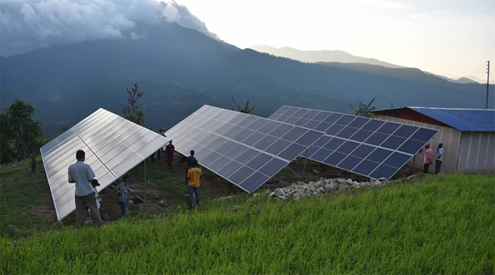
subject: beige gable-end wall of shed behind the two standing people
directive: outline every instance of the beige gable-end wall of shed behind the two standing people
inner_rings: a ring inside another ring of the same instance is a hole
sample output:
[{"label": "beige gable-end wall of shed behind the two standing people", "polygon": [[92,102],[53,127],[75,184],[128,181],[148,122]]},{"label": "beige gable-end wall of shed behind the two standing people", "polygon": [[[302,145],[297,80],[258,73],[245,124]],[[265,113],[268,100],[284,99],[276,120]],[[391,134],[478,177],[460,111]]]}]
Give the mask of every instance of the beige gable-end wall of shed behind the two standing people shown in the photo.
[{"label": "beige gable-end wall of shed behind the two standing people", "polygon": [[[445,126],[440,126],[425,122],[418,122],[414,120],[398,118],[383,114],[375,114],[374,118],[438,130],[438,133],[430,141],[430,146],[433,150],[434,161],[433,164],[430,165],[429,172],[431,173],[435,172],[435,160],[437,159],[437,146],[439,143],[442,143],[444,147],[444,161],[442,162],[440,171],[441,172],[457,171],[457,160],[459,157],[459,148],[461,143],[461,132],[459,130],[451,127],[445,127]],[[494,137],[492,136],[492,139],[493,138]],[[425,149],[423,147],[423,149],[420,152],[418,152],[409,161],[409,164],[423,169],[424,154],[425,154]]]}]

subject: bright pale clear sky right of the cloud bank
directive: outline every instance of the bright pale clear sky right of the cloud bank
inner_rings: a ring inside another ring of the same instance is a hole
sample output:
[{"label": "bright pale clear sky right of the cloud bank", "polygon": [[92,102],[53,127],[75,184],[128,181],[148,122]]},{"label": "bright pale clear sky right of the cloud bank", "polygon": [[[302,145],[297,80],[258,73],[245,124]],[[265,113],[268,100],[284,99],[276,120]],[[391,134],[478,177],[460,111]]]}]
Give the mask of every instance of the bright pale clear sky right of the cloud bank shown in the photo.
[{"label": "bright pale clear sky right of the cloud bank", "polygon": [[483,64],[492,60],[495,72],[495,0],[177,2],[240,48],[342,50],[448,77],[478,73],[485,81]]}]

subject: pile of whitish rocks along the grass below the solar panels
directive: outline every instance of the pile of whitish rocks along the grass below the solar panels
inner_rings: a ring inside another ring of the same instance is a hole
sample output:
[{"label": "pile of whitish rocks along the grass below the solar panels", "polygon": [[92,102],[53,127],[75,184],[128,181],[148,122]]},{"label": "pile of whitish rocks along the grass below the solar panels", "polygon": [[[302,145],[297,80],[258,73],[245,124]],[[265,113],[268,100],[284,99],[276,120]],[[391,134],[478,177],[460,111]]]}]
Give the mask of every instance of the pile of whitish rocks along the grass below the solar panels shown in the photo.
[{"label": "pile of whitish rocks along the grass below the solar panels", "polygon": [[290,186],[275,189],[275,191],[269,193],[268,197],[281,200],[291,198],[297,200],[302,197],[308,197],[328,192],[336,192],[342,190],[347,191],[352,188],[359,188],[361,186],[382,185],[387,181],[388,180],[386,178],[364,182],[358,182],[350,178],[320,178],[320,180],[316,182],[310,181],[309,183],[297,181],[297,183],[293,183]]}]

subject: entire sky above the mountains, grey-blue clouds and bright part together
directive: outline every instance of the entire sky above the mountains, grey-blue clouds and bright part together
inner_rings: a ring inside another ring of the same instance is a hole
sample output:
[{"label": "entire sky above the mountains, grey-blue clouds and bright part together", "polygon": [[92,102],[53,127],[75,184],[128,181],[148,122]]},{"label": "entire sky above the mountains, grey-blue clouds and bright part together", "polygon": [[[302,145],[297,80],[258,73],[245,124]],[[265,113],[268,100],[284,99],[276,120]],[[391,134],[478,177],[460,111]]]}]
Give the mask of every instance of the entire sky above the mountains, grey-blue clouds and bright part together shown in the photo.
[{"label": "entire sky above the mountains, grey-blue clouds and bright part together", "polygon": [[486,81],[495,64],[495,0],[1,0],[0,12],[7,56],[176,21],[242,49],[342,50],[451,78]]}]

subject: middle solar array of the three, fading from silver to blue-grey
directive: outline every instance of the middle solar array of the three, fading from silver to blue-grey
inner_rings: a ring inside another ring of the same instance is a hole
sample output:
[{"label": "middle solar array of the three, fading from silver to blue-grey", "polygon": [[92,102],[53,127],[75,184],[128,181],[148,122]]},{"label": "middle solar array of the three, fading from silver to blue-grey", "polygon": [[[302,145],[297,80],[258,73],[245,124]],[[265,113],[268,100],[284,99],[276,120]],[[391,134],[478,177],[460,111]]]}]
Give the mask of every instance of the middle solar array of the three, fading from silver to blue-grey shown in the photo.
[{"label": "middle solar array of the three, fading from silver to blue-grey", "polygon": [[253,192],[324,133],[246,113],[203,106],[166,133],[183,155]]}]

